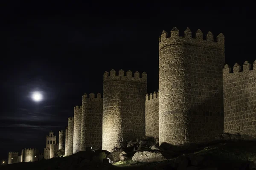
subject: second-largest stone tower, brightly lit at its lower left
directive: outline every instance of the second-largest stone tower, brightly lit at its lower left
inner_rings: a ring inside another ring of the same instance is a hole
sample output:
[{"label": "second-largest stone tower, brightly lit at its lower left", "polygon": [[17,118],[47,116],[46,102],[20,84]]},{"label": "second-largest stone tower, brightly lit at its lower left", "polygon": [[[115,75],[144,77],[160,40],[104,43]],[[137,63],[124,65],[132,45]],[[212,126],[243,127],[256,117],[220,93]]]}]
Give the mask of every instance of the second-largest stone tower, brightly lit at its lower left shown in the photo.
[{"label": "second-largest stone tower, brightly lit at its lower left", "polygon": [[113,69],[103,79],[102,149],[112,151],[125,142],[145,137],[147,75]]}]

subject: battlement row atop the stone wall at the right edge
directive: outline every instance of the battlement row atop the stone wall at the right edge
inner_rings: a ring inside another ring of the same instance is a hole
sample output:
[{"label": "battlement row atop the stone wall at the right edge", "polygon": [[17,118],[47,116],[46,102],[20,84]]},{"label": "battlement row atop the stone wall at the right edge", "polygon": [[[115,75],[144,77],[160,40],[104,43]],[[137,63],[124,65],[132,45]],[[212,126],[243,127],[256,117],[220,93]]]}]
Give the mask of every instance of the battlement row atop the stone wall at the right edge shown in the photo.
[{"label": "battlement row atop the stone wall at the right edge", "polygon": [[255,72],[256,70],[256,60],[253,62],[253,64],[250,64],[250,62],[245,61],[244,64],[241,66],[239,63],[235,63],[233,67],[230,67],[230,65],[226,64],[223,68],[223,74],[232,74],[232,73],[248,73],[248,72]]}]

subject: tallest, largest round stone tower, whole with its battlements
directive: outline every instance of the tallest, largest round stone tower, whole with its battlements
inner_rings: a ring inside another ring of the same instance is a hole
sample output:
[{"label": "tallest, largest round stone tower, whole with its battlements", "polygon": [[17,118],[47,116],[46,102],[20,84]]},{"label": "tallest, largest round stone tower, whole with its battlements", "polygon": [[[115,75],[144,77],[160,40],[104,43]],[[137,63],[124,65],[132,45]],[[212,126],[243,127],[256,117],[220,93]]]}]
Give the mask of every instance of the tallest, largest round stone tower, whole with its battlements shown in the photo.
[{"label": "tallest, largest round stone tower, whole with its battlements", "polygon": [[185,37],[173,28],[159,38],[159,144],[209,141],[224,131],[224,36],[206,38],[200,30],[192,38],[189,28]]}]

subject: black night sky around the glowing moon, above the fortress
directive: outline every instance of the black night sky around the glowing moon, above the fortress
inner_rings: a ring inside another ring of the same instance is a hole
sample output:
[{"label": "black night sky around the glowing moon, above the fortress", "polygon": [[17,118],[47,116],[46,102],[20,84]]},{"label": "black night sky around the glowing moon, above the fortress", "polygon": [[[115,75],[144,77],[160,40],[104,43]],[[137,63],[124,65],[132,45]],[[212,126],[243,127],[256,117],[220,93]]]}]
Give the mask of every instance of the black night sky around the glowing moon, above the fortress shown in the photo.
[{"label": "black night sky around the glowing moon, above the fortress", "polygon": [[[0,160],[23,148],[42,153],[84,93],[103,93],[105,70],[145,71],[148,93],[158,91],[163,29],[222,32],[226,63],[256,59],[249,7],[39,2],[1,2]],[[33,91],[44,100],[32,101]]]}]

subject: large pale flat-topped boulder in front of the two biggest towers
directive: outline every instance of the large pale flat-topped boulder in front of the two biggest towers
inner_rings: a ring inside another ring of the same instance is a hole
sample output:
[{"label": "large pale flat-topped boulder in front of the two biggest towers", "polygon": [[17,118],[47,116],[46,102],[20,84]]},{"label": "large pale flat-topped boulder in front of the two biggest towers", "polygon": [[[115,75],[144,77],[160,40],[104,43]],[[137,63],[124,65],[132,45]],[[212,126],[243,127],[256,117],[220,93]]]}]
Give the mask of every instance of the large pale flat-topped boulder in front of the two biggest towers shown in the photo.
[{"label": "large pale flat-topped boulder in front of the two biggest towers", "polygon": [[132,160],[134,162],[156,162],[166,161],[167,159],[160,151],[140,151],[134,154]]}]

